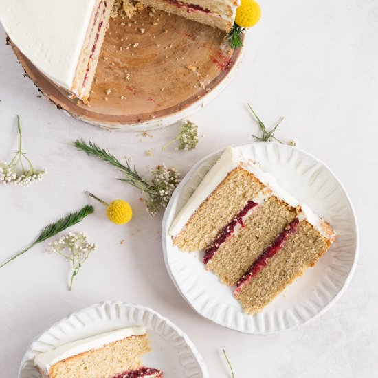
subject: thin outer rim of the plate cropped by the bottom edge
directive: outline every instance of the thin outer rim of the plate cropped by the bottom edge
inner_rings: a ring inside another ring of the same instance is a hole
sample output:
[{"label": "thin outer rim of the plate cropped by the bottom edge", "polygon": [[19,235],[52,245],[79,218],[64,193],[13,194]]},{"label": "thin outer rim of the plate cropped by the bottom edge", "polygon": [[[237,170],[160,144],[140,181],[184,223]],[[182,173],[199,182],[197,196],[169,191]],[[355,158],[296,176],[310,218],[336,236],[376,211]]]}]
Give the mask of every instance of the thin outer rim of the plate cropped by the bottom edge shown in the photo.
[{"label": "thin outer rim of the plate cropped by the bottom edge", "polygon": [[30,345],[28,346],[27,350],[25,351],[25,354],[23,355],[23,358],[21,359],[21,364],[20,364],[19,373],[18,373],[17,377],[18,378],[21,377],[23,366],[25,365],[25,363],[27,361],[29,361],[28,355],[32,352],[34,343],[38,342],[38,340],[40,340],[41,337],[43,337],[43,335],[45,335],[46,333],[49,333],[50,330],[54,329],[54,327],[58,326],[60,323],[67,322],[67,320],[69,320],[69,318],[71,318],[73,316],[80,315],[80,313],[85,313],[86,311],[90,311],[91,309],[96,309],[98,307],[102,307],[104,304],[108,304],[109,306],[114,306],[115,304],[118,304],[118,305],[123,306],[123,307],[140,309],[142,311],[146,311],[148,313],[151,313],[152,315],[157,316],[157,318],[159,318],[160,320],[165,322],[171,329],[173,329],[177,333],[177,335],[179,335],[180,337],[182,337],[184,339],[186,345],[188,346],[188,348],[192,352],[194,359],[196,359],[196,361],[199,365],[199,368],[201,369],[201,373],[203,374],[203,378],[210,378],[210,375],[208,373],[208,368],[207,368],[205,361],[202,358],[201,354],[197,350],[197,347],[194,345],[192,340],[190,340],[188,335],[186,335],[186,333],[179,328],[179,326],[177,326],[175,323],[173,323],[168,318],[160,315],[160,313],[151,309],[150,307],[142,306],[140,304],[135,304],[135,303],[127,303],[127,302],[123,302],[122,300],[103,300],[102,302],[98,302],[96,304],[91,304],[90,306],[76,310],[73,313],[70,313],[69,315],[65,316],[64,318],[58,320],[57,322],[54,322],[54,324],[52,324],[51,326],[49,326],[49,328],[45,329],[39,335],[34,337],[32,342],[30,342]]}]

